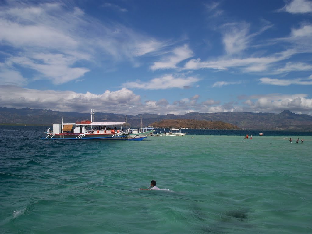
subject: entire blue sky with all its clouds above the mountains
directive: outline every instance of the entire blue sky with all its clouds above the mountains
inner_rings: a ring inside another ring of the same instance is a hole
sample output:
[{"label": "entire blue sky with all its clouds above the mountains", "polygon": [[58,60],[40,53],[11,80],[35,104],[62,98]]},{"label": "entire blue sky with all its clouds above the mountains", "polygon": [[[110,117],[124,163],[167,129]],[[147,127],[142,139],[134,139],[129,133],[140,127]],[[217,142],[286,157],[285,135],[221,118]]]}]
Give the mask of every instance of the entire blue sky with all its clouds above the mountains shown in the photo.
[{"label": "entire blue sky with all its clouds above the mountains", "polygon": [[312,115],[312,1],[1,1],[0,106]]}]

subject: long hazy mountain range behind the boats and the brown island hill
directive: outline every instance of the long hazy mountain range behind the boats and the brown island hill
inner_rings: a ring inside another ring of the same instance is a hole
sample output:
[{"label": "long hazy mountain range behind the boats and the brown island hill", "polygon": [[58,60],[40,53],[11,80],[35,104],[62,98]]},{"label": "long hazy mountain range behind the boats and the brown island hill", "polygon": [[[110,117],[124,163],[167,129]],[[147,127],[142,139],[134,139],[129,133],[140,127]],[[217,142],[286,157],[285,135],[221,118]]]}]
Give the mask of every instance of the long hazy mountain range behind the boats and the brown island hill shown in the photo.
[{"label": "long hazy mountain range behind the boats and the brown island hill", "polygon": [[[91,119],[90,113],[0,107],[0,124],[52,125],[53,123],[61,123],[62,117],[64,117],[64,123],[75,123],[76,121]],[[139,114],[127,115],[127,122],[131,124],[132,128],[141,127],[141,117],[143,127],[163,119],[195,119],[222,121],[243,129],[312,131],[311,115],[298,115],[289,110],[284,110],[280,114],[250,112],[190,112],[185,115]],[[125,121],[125,115],[95,113],[95,121]]]}]

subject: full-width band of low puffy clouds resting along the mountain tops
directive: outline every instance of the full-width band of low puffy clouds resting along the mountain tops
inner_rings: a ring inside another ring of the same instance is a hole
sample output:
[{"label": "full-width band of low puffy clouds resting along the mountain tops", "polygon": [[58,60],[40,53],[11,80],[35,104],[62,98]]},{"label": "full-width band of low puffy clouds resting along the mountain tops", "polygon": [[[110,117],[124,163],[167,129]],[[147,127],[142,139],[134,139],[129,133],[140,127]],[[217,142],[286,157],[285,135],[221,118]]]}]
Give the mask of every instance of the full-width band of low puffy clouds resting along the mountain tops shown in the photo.
[{"label": "full-width band of low puffy clouds resting along the mountain tops", "polygon": [[[312,79],[312,77],[311,77]],[[215,113],[223,111],[276,112],[282,110],[312,112],[312,99],[306,94],[295,95],[252,95],[241,97],[242,103],[221,104],[218,100],[199,100],[198,95],[169,103],[166,99],[146,100],[126,88],[117,91],[106,90],[103,94],[90,92],[53,91],[25,89],[15,85],[0,85],[2,107],[37,108],[58,111],[97,112],[137,115],[151,113],[159,115],[184,115],[189,112]]]}]

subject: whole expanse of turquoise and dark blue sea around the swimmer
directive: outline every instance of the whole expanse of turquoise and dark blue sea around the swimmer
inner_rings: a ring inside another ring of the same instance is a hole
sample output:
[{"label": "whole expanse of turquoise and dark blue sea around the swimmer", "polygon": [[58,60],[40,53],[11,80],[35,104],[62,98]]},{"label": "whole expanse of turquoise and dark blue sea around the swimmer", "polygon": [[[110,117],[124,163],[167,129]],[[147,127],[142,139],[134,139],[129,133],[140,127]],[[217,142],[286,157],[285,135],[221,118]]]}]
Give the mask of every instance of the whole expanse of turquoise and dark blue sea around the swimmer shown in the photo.
[{"label": "whole expanse of turquoise and dark blue sea around the swimmer", "polygon": [[[312,232],[311,133],[136,142],[43,140],[44,130],[0,126],[1,234]],[[171,191],[139,190],[151,180]]]}]

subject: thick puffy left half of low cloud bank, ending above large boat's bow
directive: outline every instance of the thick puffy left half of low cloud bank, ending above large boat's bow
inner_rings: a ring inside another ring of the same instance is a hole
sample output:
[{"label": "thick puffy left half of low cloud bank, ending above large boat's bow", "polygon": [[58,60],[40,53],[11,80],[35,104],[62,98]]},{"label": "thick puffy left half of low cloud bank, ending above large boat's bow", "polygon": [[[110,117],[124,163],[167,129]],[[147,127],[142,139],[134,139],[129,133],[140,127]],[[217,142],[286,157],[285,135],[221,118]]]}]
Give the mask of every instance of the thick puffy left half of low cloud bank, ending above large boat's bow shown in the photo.
[{"label": "thick puffy left half of low cloud bank, ending above large boat's bow", "polygon": [[85,94],[73,91],[25,89],[13,85],[0,85],[0,103],[3,107],[39,108],[59,111],[97,111],[127,114],[131,106],[140,106],[141,98],[131,90],[106,90],[103,94]]}]

